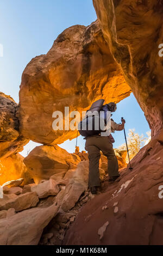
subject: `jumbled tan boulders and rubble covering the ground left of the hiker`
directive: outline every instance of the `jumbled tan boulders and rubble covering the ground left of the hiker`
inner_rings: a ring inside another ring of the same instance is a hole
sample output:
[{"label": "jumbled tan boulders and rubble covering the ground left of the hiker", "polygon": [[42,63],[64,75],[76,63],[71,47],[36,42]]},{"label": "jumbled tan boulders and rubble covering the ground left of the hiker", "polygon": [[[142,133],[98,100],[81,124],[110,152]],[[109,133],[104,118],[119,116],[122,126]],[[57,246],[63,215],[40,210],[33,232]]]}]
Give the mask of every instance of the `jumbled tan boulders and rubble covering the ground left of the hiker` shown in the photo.
[{"label": "jumbled tan boulders and rubble covering the ground left of the hiker", "polygon": [[[81,155],[86,157],[86,153],[80,153]],[[55,164],[57,161],[60,163],[58,159]],[[101,162],[101,166],[104,164],[105,162]],[[88,160],[83,160],[76,169],[66,169],[65,175],[60,169],[59,173],[40,180],[37,185],[33,182],[22,186],[23,178],[3,184],[4,194],[0,200],[0,244],[60,245],[82,206],[95,197],[87,188],[88,167]],[[102,184],[106,179],[106,172],[100,168]],[[45,178],[43,173],[42,176],[39,174],[39,178]]]}]

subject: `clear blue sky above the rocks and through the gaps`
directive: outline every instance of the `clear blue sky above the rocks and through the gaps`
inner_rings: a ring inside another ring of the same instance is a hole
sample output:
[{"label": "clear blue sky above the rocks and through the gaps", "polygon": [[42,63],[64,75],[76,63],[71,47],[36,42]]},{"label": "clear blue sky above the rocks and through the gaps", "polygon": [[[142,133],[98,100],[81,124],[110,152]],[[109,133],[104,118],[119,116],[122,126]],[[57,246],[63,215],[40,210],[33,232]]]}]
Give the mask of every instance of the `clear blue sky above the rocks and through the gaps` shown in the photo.
[{"label": "clear blue sky above the rocks and through the gaps", "polygon": [[[4,55],[0,57],[0,91],[11,95],[18,102],[21,75],[28,62],[35,56],[45,54],[53,41],[64,29],[73,25],[90,25],[97,19],[92,0],[1,0],[0,44]],[[149,131],[147,121],[133,95],[117,105],[113,118],[117,123],[126,118],[126,130],[135,128],[139,134]],[[118,147],[124,143],[122,132],[114,135]],[[82,137],[78,138],[84,150]],[[67,141],[61,147],[74,151],[75,141]],[[31,142],[27,150],[35,147]]]}]

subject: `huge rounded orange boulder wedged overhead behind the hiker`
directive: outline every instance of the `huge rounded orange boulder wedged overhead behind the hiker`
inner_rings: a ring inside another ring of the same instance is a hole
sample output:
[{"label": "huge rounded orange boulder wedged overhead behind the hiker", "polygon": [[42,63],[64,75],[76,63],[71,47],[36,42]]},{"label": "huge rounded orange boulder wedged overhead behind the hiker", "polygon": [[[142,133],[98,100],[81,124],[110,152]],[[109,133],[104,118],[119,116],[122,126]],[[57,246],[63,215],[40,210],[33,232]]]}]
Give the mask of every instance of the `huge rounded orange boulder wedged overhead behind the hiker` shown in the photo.
[{"label": "huge rounded orange boulder wedged overhead behind the hiker", "polygon": [[42,144],[60,144],[76,131],[54,131],[54,111],[83,111],[98,99],[119,102],[130,88],[112,58],[98,22],[62,32],[46,55],[35,57],[22,75],[22,135]]}]

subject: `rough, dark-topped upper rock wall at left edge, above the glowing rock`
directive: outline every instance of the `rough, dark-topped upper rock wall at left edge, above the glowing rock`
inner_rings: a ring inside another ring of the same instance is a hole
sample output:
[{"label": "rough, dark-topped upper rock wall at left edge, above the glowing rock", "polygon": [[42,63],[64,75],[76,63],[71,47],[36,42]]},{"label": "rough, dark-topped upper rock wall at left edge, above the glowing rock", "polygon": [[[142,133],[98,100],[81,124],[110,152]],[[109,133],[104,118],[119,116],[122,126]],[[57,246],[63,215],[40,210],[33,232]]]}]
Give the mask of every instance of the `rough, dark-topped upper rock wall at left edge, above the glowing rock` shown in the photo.
[{"label": "rough, dark-topped upper rock wall at left edge, above the glowing rock", "polygon": [[23,150],[28,140],[20,135],[17,103],[0,92],[0,158]]}]

